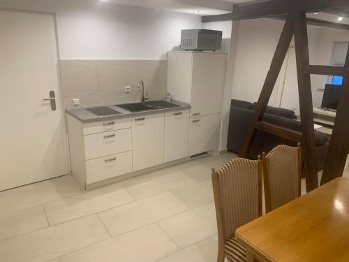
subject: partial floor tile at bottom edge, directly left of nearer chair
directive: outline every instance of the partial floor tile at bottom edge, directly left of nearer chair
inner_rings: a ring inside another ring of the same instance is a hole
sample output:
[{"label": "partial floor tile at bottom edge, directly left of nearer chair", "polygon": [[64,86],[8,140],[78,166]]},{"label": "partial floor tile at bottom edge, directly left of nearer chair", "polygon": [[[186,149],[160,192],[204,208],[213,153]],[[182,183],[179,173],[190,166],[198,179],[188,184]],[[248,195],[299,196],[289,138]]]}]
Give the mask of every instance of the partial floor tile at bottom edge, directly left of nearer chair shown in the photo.
[{"label": "partial floor tile at bottom edge, directly left of nearer chair", "polygon": [[182,249],[158,262],[214,262],[217,260],[218,239],[209,238]]}]

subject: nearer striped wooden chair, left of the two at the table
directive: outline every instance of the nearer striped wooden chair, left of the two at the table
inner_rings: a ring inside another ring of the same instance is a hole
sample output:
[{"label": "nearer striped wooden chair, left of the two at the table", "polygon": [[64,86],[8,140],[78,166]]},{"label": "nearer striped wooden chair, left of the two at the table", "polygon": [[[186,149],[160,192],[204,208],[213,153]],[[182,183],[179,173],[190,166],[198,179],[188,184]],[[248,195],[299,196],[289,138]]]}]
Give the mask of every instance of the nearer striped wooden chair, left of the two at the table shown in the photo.
[{"label": "nearer striped wooden chair, left of the two at the table", "polygon": [[262,160],[233,159],[212,168],[218,227],[217,262],[246,261],[246,248],[235,230],[262,215]]}]

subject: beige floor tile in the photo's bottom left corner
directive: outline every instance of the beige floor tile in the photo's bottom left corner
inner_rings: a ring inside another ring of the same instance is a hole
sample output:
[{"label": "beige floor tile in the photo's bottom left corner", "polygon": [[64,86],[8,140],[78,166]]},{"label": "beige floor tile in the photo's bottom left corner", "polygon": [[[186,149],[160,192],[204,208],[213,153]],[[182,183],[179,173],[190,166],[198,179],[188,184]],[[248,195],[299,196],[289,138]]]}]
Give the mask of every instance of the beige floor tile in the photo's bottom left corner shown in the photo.
[{"label": "beige floor tile in the photo's bottom left corner", "polygon": [[96,214],[0,242],[1,260],[48,261],[110,235]]}]

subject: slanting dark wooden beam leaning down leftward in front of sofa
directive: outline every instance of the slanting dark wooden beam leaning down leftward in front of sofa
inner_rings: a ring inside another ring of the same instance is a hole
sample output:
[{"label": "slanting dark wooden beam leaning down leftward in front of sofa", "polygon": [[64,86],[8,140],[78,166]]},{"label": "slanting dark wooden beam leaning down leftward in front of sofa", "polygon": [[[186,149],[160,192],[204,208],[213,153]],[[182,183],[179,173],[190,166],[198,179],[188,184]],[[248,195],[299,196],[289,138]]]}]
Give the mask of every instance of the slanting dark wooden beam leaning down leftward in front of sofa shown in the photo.
[{"label": "slanting dark wooden beam leaning down leftward in front of sofa", "polygon": [[242,151],[240,152],[240,157],[248,157],[248,152],[250,152],[253,140],[255,138],[255,126],[258,122],[261,122],[262,117],[265,113],[265,109],[267,108],[270,96],[272,95],[276,80],[279,77],[283,61],[285,60],[288,48],[290,47],[292,37],[293,15],[289,15],[285,22],[285,26],[283,27],[279,43],[276,47],[276,52],[272,59],[272,64],[267,74],[267,78],[265,79],[265,83],[262,87],[262,92],[260,93],[260,98],[258,99],[257,106],[255,108],[255,112],[253,113],[251,124],[246,134],[244,146],[242,147]]}]

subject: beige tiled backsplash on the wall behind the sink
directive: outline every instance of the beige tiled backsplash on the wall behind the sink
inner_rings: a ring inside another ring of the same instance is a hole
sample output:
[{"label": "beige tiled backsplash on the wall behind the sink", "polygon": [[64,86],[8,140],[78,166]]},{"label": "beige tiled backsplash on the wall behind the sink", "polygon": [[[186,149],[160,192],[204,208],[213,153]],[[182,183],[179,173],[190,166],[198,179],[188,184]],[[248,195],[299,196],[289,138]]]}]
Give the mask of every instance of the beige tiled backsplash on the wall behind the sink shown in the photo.
[{"label": "beige tiled backsplash on the wall behind the sink", "polygon": [[73,99],[80,99],[80,106],[140,101],[139,80],[151,100],[165,99],[167,66],[166,60],[61,60],[64,106],[72,108]]}]

